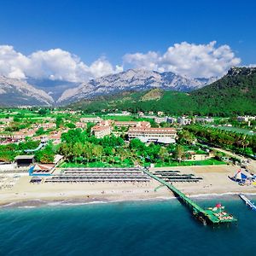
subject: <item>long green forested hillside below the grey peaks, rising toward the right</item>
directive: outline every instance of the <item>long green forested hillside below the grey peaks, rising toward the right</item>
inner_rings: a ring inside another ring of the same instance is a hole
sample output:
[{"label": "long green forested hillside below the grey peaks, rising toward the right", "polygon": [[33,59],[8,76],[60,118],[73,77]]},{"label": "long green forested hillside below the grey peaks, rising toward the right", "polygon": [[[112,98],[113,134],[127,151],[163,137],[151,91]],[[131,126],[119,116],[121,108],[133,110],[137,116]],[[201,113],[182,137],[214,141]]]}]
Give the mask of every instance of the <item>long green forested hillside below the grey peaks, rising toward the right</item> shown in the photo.
[{"label": "long green forested hillside below the grey peaks, rising toward the right", "polygon": [[164,111],[168,114],[256,114],[256,68],[234,67],[218,81],[189,93],[159,89],[101,96],[71,105],[87,113],[112,111]]}]

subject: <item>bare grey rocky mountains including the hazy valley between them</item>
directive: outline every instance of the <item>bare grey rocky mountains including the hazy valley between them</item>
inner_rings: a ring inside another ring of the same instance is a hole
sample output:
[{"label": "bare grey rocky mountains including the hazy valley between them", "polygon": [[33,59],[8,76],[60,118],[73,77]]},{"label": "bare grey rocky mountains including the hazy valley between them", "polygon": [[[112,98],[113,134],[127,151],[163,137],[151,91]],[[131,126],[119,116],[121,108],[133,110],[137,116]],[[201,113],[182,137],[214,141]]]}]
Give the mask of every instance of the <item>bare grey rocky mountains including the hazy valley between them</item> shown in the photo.
[{"label": "bare grey rocky mountains including the hazy valley between them", "polygon": [[0,77],[1,106],[66,105],[83,98],[93,98],[125,90],[191,91],[211,84],[212,79],[189,79],[172,72],[158,73],[143,69],[129,69],[84,83],[49,79],[9,79]]}]

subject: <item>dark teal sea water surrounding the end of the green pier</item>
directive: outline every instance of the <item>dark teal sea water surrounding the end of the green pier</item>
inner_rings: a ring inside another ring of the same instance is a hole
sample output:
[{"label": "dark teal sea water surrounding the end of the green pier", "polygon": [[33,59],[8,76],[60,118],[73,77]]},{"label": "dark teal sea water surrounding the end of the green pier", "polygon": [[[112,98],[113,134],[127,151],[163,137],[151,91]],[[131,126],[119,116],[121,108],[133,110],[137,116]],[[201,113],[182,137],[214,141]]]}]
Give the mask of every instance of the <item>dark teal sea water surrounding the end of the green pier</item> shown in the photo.
[{"label": "dark teal sea water surrounding the end of the green pier", "polygon": [[176,199],[1,208],[0,255],[256,255],[256,212],[237,196],[195,201],[238,224],[203,226]]}]

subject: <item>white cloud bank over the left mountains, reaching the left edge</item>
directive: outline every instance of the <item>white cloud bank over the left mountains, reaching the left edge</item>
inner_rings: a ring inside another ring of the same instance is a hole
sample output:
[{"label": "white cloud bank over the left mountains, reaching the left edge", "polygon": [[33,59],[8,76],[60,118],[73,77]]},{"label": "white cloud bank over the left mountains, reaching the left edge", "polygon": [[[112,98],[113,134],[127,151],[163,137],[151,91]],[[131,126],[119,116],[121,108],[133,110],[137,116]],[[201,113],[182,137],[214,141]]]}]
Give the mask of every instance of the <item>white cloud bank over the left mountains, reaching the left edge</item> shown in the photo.
[{"label": "white cloud bank over the left mountains, reaching the left edge", "polygon": [[9,78],[82,82],[120,71],[122,67],[113,67],[106,58],[86,65],[77,55],[62,49],[38,50],[23,55],[13,46],[0,45],[0,74]]}]

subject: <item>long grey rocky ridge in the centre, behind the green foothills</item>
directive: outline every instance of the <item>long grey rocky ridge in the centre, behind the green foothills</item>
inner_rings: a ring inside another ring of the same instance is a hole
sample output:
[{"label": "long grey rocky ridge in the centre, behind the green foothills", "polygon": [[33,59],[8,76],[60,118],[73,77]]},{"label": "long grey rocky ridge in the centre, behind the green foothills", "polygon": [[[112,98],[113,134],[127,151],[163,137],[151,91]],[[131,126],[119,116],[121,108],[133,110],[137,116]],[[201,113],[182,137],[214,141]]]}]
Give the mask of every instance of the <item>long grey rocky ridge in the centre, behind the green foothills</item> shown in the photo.
[{"label": "long grey rocky ridge in the centre, behind the green foothills", "polygon": [[57,100],[59,104],[77,102],[96,96],[116,94],[125,90],[162,90],[191,91],[215,81],[212,79],[188,79],[172,72],[159,73],[143,69],[129,69],[122,73],[111,74],[99,79],[79,84],[78,87],[65,90]]}]

